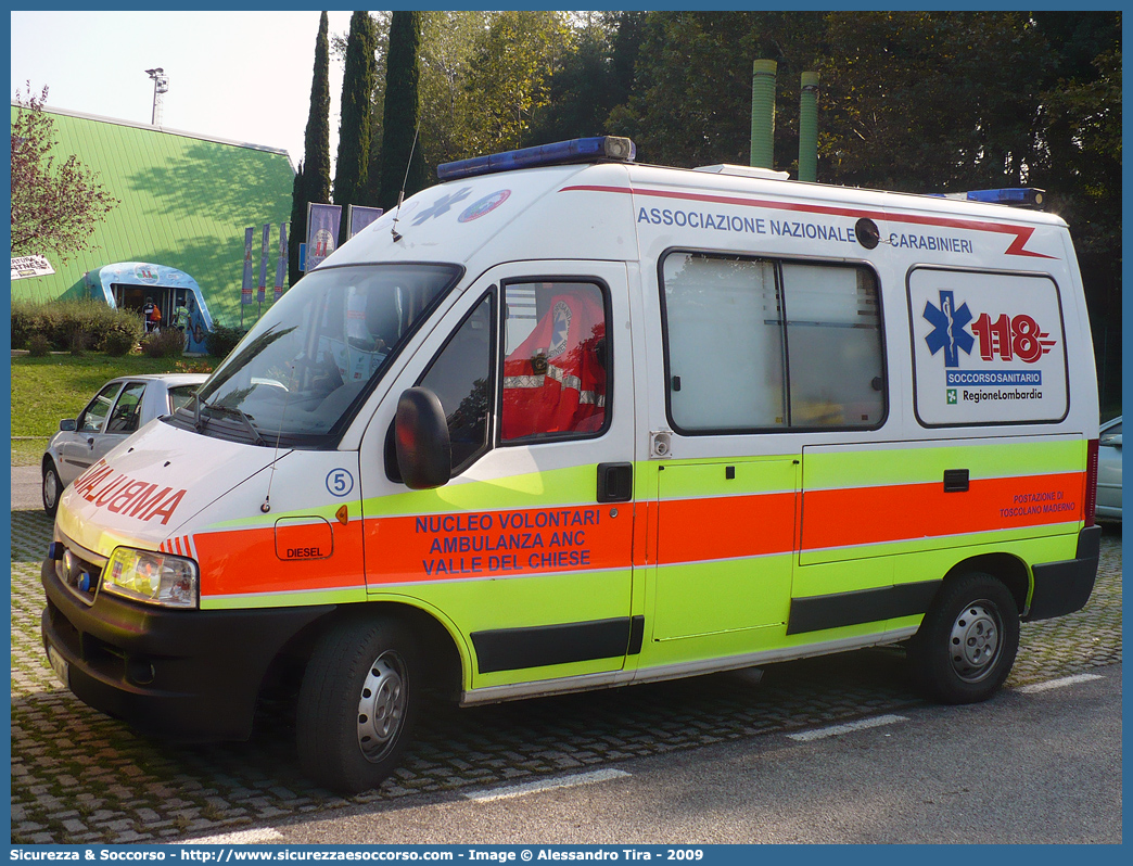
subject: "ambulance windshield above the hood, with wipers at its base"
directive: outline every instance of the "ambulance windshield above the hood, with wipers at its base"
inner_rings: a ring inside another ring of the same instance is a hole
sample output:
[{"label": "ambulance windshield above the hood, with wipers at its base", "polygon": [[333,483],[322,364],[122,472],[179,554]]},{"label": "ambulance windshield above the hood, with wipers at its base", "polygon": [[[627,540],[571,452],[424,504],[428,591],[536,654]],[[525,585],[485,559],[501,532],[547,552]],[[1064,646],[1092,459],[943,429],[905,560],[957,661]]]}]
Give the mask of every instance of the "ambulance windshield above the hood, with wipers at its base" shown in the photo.
[{"label": "ambulance windshield above the hood, with wipers at its base", "polygon": [[443,264],[313,271],[263,315],[173,423],[256,444],[325,444],[460,273]]}]

